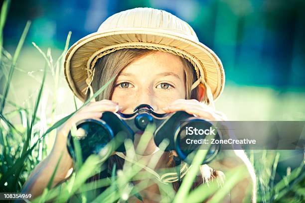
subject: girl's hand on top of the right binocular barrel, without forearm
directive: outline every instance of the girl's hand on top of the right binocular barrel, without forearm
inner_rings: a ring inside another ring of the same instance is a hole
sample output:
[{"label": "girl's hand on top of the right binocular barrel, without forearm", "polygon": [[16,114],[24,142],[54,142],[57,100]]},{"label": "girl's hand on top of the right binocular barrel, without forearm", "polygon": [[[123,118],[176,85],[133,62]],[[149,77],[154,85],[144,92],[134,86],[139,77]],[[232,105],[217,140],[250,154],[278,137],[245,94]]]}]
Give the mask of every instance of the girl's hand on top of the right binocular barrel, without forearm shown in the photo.
[{"label": "girl's hand on top of the right binocular barrel, without forearm", "polygon": [[166,113],[175,112],[178,110],[184,110],[189,114],[193,114],[196,117],[202,117],[208,120],[227,120],[227,116],[220,112],[214,110],[212,107],[201,103],[197,100],[176,100],[169,105],[162,108]]}]

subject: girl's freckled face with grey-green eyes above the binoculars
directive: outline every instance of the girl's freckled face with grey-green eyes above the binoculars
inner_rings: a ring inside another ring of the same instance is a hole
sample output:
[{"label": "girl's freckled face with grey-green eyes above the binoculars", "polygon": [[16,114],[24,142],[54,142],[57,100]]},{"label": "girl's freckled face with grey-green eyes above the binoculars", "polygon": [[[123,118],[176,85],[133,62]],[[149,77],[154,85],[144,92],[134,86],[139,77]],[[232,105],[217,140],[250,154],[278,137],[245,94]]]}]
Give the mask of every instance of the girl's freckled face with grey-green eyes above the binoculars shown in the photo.
[{"label": "girl's freckled face with grey-green eyes above the binoculars", "polygon": [[177,100],[185,99],[183,63],[174,54],[155,52],[134,61],[120,73],[112,95],[123,113],[132,113],[140,104],[156,112]]}]

